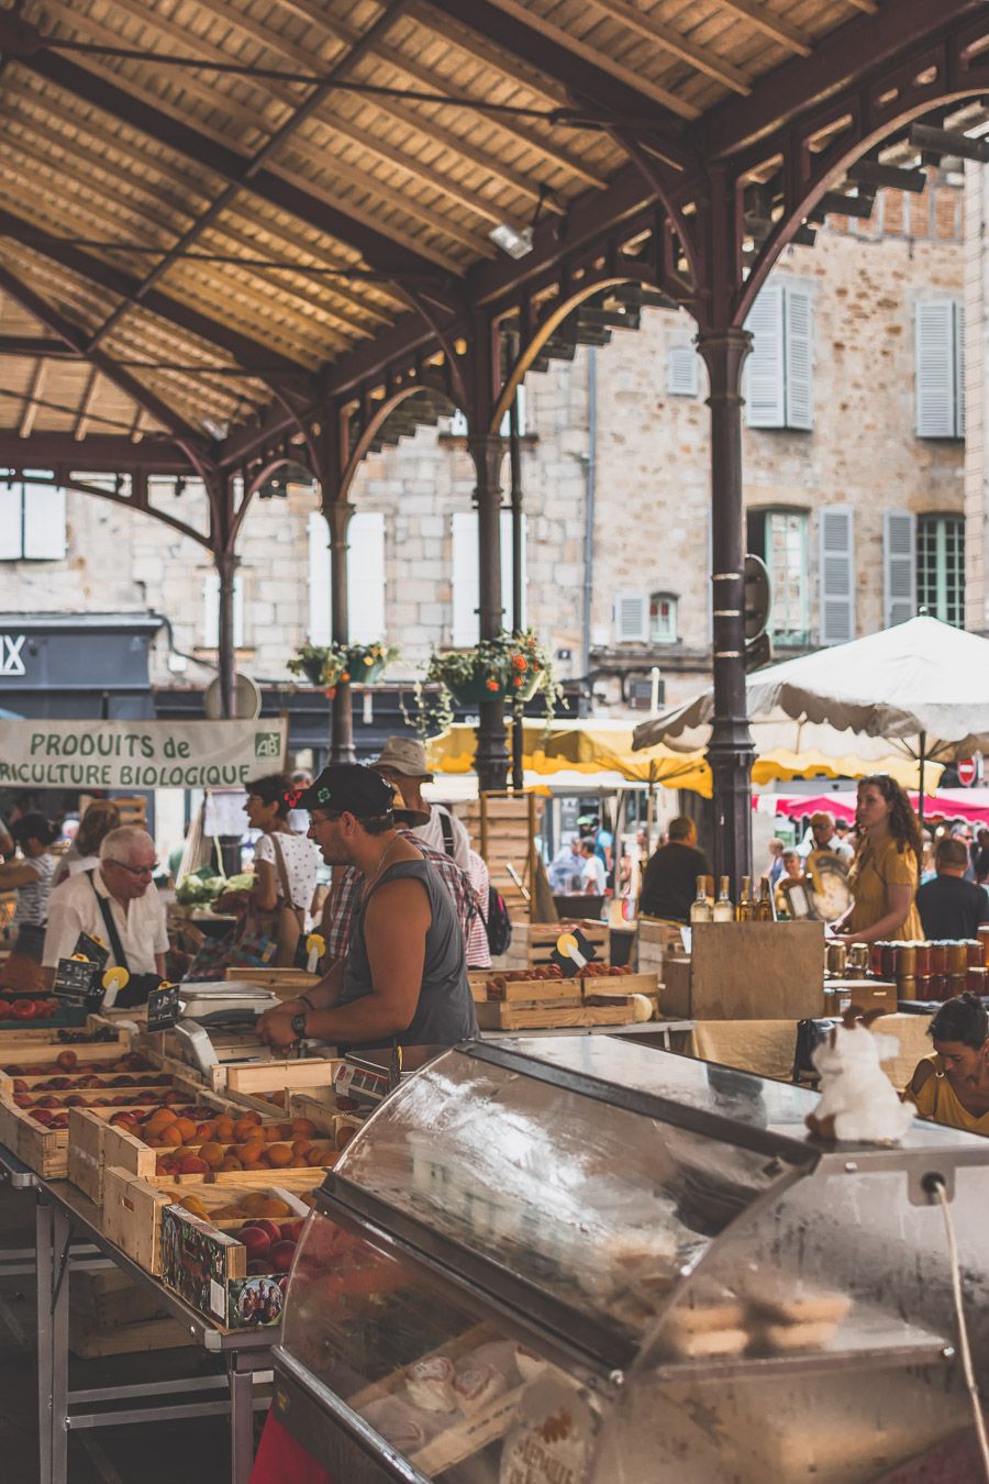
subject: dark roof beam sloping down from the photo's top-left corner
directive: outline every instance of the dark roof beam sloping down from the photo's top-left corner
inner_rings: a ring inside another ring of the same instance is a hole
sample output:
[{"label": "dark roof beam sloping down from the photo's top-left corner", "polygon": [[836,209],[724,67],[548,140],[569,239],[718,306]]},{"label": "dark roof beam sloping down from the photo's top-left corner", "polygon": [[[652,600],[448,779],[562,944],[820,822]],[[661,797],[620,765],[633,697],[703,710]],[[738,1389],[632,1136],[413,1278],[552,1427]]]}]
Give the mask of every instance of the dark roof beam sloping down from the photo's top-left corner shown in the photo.
[{"label": "dark roof beam sloping down from the photo's top-left corner", "polygon": [[[82,98],[93,108],[99,108],[132,129],[139,129],[163,148],[184,154],[228,184],[240,184],[251,163],[243,154],[218,144],[191,125],[172,119],[145,99],[135,98],[123,88],[117,88],[105,77],[98,77],[95,73],[86,71],[85,67],[77,67],[76,62],[49,50],[44,46],[44,37],[34,27],[25,27],[24,22],[10,24],[7,12],[0,12],[0,52],[4,56],[16,58],[21,65],[64,92]],[[259,169],[243,184],[243,190],[265,200],[270,206],[291,212],[300,221],[316,227],[317,232],[356,248],[369,267],[383,269],[397,278],[402,273],[429,273],[430,278],[436,278],[436,264],[429,258],[420,257],[412,248],[403,248],[375,232],[374,227],[354,221],[343,208],[317,200],[273,171]]]}]

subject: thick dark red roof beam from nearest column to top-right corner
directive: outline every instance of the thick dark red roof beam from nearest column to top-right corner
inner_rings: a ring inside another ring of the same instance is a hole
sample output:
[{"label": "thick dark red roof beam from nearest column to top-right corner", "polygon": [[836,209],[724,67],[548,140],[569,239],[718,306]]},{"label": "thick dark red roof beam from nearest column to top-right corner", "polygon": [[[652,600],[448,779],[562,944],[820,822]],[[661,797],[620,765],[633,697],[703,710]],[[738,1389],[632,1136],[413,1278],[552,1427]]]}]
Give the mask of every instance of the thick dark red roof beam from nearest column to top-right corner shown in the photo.
[{"label": "thick dark red roof beam from nearest column to top-right corner", "polygon": [[985,0],[896,0],[875,15],[856,16],[818,42],[810,56],[761,77],[747,98],[712,108],[691,129],[697,150],[709,162],[738,154],[897,53],[936,42],[985,9]]}]

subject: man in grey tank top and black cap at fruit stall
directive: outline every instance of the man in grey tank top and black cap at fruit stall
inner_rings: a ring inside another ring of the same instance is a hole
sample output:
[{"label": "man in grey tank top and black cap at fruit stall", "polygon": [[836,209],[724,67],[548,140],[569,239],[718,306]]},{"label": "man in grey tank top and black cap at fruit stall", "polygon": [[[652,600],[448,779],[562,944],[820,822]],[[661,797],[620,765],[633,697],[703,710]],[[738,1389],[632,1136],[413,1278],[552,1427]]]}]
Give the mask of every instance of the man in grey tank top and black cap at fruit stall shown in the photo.
[{"label": "man in grey tank top and black cap at fruit stall", "polygon": [[313,1037],[353,1049],[454,1046],[477,1034],[464,936],[449,890],[394,827],[394,789],[369,767],[335,763],[295,801],[328,865],[365,889],[347,957],[258,1021],[277,1051]]}]

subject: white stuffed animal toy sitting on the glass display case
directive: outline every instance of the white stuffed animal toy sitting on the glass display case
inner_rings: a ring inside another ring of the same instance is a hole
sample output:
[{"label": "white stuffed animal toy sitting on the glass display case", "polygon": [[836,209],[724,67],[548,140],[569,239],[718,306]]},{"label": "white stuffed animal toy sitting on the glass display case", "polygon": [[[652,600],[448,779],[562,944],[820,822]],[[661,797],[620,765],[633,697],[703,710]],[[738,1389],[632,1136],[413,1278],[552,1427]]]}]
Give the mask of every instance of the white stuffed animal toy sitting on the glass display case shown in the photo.
[{"label": "white stuffed animal toy sitting on the glass display case", "polygon": [[826,1140],[861,1144],[899,1144],[913,1122],[913,1109],[900,1103],[881,1063],[899,1051],[896,1036],[878,1036],[870,1024],[882,1011],[864,1015],[851,1005],[841,1025],[832,1027],[813,1055],[821,1079],[821,1098],[805,1123]]}]

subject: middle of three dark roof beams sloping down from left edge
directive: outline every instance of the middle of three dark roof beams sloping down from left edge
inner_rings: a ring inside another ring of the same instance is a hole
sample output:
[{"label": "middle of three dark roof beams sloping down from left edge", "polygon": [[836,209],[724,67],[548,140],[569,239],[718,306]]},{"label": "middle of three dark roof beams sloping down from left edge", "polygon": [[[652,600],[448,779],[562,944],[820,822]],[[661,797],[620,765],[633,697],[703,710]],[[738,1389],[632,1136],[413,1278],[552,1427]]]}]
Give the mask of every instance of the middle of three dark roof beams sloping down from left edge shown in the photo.
[{"label": "middle of three dark roof beams sloping down from left edge", "polygon": [[[33,223],[1,208],[0,236],[30,243],[37,252],[46,258],[52,258],[53,263],[61,263],[62,267],[70,269],[80,278],[89,279],[90,283],[98,283],[101,288],[123,298],[133,294],[139,286],[141,280],[123,269],[111,267],[102,258],[83,252],[82,248],[76,248],[70,242],[62,242],[59,237],[49,236],[40,232]],[[277,368],[279,375],[297,378],[308,378],[311,375],[308,368],[300,365],[298,361],[292,361],[277,350],[270,350],[267,346],[251,340],[248,335],[242,335],[240,331],[231,329],[228,325],[221,325],[219,321],[203,315],[199,309],[184,304],[162,289],[151,289],[145,294],[144,307],[160,319],[166,319],[178,329],[185,329],[188,334],[197,335],[200,340],[208,340],[211,344],[225,350],[234,359],[240,361],[245,370],[261,361],[271,367],[273,371]]]}]

